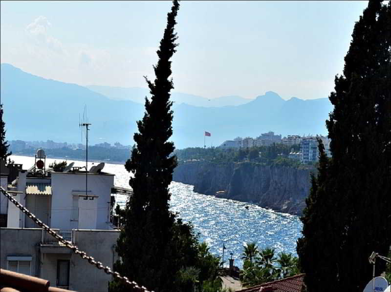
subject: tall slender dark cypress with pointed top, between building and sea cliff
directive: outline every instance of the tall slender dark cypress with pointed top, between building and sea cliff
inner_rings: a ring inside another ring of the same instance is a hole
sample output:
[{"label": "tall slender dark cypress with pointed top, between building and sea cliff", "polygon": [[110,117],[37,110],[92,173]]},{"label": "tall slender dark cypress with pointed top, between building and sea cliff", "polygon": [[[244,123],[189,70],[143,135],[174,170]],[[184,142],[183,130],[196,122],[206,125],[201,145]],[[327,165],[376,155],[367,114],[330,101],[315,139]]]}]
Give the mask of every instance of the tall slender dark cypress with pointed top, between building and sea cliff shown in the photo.
[{"label": "tall slender dark cypress with pointed top, between building and sea cliff", "polygon": [[[124,226],[117,241],[122,262],[114,266],[131,280],[159,292],[177,290],[175,283],[187,256],[181,254],[183,241],[178,237],[190,234],[189,226],[178,224],[175,214],[169,211],[168,186],[177,164],[176,156],[170,156],[174,143],[168,141],[173,134],[170,91],[174,88],[169,78],[170,59],[177,46],[174,26],[178,9],[179,3],[174,0],[157,51],[159,59],[153,66],[155,80],[152,82],[145,77],[152,97],[151,101],[145,99],[144,117],[137,122],[139,133],[133,136],[136,146],[125,165],[134,175],[129,182],[133,195],[122,212]],[[190,243],[188,253],[196,252],[196,244],[196,240]],[[121,284],[114,286],[113,290],[127,291]]]}]

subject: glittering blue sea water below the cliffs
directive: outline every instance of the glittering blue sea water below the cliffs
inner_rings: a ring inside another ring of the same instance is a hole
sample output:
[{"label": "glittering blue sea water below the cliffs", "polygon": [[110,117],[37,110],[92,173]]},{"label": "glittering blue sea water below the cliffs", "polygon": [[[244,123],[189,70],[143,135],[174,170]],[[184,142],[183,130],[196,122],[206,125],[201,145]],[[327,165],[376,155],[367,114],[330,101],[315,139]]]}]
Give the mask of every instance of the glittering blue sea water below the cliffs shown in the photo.
[{"label": "glittering blue sea water below the cliffs", "polygon": [[[34,165],[30,156],[11,156],[15,163],[23,164],[23,169]],[[65,158],[46,158],[45,165],[54,161],[74,162],[74,166],[85,166],[85,161]],[[99,162],[88,162],[88,169]],[[105,163],[102,170],[114,174],[114,185],[129,188],[130,174],[124,164]],[[247,242],[256,242],[259,249],[271,247],[275,253],[296,253],[296,241],[301,236],[303,224],[299,217],[278,213],[257,205],[234,200],[198,194],[193,186],[172,182],[170,184],[170,209],[177,212],[184,222],[191,222],[199,240],[208,243],[210,252],[222,258],[228,266],[228,258],[234,258],[234,265],[242,267],[241,253]],[[117,195],[116,201],[125,206],[127,196]],[[225,249],[223,250],[223,247]]]}]

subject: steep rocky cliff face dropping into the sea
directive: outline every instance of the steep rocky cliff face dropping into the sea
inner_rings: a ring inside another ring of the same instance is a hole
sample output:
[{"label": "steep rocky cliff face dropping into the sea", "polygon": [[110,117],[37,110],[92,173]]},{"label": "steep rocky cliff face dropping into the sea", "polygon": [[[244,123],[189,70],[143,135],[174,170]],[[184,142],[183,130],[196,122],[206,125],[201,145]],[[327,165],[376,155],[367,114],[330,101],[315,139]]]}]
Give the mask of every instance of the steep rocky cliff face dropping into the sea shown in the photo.
[{"label": "steep rocky cliff face dropping into the sea", "polygon": [[197,193],[300,215],[311,187],[311,172],[315,169],[197,161],[178,165],[173,180],[194,185]]}]

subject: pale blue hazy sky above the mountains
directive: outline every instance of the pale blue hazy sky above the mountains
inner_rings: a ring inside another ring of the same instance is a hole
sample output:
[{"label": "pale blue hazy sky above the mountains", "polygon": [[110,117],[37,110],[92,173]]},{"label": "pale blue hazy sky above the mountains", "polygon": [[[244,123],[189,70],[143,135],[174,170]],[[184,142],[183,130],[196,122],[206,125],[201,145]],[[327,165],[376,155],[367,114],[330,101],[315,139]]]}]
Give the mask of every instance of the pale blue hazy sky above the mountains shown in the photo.
[{"label": "pale blue hazy sky above the mountains", "polygon": [[[368,1],[181,1],[174,91],[328,97]],[[80,85],[146,87],[170,1],[1,1],[1,63]]]}]

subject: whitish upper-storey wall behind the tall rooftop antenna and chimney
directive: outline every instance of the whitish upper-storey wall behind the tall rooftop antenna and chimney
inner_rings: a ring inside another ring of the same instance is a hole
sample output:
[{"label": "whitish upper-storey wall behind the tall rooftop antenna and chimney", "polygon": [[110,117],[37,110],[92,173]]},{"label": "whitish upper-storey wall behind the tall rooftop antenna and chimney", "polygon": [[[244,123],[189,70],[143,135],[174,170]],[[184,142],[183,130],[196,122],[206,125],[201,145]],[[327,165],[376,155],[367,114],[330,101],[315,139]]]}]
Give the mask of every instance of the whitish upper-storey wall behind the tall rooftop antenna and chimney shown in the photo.
[{"label": "whitish upper-storey wall behind the tall rooftop antenna and chimney", "polygon": [[[86,175],[73,173],[52,173],[52,212],[51,226],[69,230],[77,228],[72,220],[73,195],[77,191],[85,192]],[[88,229],[108,230],[108,202],[110,202],[111,188],[114,186],[114,175],[88,174],[88,194],[97,195],[95,198],[97,213],[96,225],[84,226]],[[88,202],[84,202],[87,204]],[[92,203],[92,200],[90,201]],[[80,206],[82,209],[89,209],[88,206]],[[91,204],[92,207],[92,204]],[[82,214],[83,210],[79,211]],[[91,223],[91,222],[90,222]]]}]

